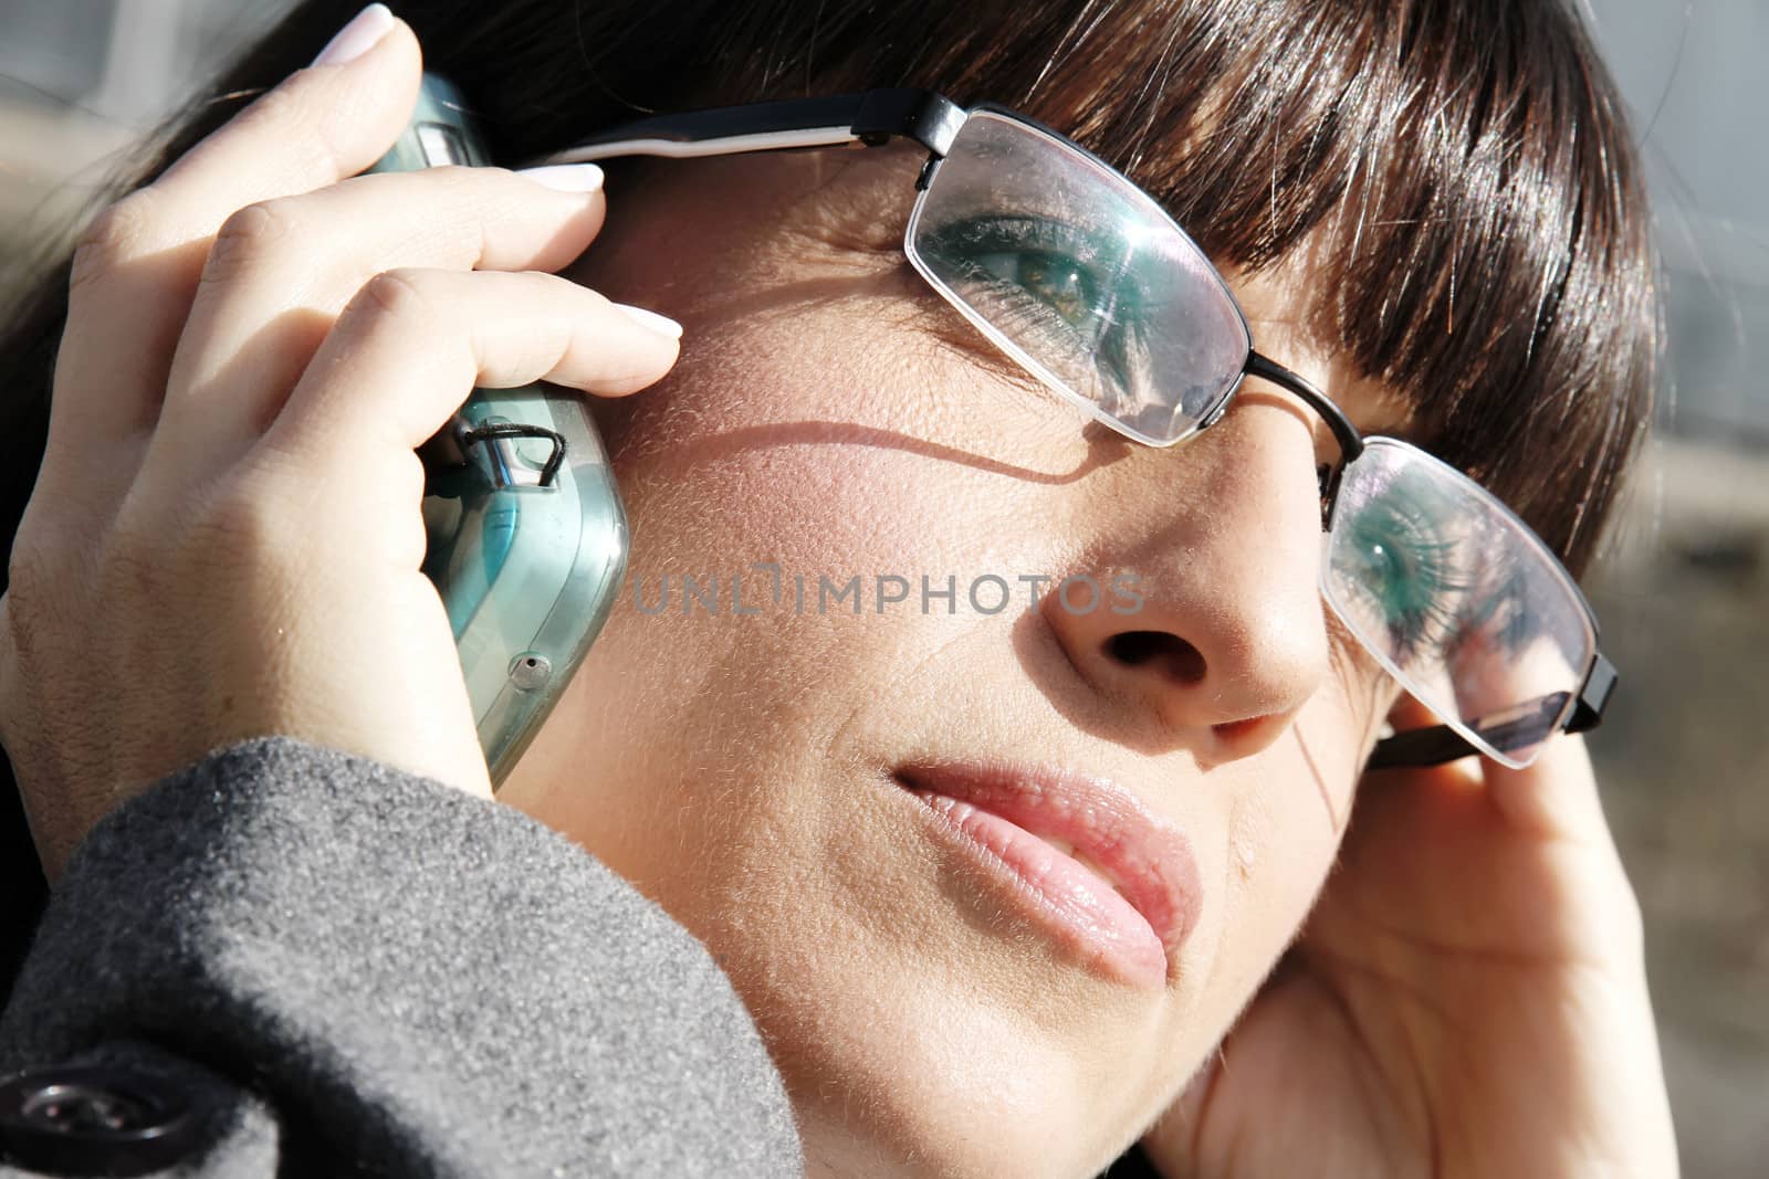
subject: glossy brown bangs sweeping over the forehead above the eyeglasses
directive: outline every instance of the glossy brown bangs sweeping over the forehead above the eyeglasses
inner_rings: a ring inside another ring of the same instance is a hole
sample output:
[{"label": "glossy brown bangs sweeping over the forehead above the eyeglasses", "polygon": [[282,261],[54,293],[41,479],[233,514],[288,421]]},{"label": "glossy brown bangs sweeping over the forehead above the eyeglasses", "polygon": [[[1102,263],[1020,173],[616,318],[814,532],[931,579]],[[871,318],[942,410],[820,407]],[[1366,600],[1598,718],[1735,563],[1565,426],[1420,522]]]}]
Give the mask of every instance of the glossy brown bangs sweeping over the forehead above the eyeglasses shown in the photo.
[{"label": "glossy brown bangs sweeping over the forehead above the eyeglasses", "polygon": [[1656,297],[1626,118],[1566,4],[982,7],[897,60],[867,5],[870,42],[826,27],[805,46],[831,65],[816,85],[1017,106],[1226,269],[1306,249],[1311,334],[1405,401],[1412,440],[1589,562],[1649,419]]}]

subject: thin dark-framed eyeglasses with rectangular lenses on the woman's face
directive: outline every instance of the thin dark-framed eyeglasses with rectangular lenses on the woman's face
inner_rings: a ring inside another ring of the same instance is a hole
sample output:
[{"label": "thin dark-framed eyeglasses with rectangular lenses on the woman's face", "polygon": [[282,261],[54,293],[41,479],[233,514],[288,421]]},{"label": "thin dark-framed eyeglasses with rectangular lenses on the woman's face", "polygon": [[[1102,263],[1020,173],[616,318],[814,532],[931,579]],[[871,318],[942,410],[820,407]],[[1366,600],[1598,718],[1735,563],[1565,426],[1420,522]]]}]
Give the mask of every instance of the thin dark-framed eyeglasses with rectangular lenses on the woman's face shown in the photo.
[{"label": "thin dark-framed eyeglasses with rectangular lenses on the woman's face", "polygon": [[1260,377],[1321,415],[1341,453],[1321,470],[1321,594],[1445,721],[1383,739],[1369,765],[1484,753],[1523,767],[1553,732],[1597,725],[1615,668],[1553,551],[1459,470],[1399,438],[1364,438],[1323,392],[1260,355],[1185,230],[1049,127],[927,90],[869,90],[644,118],[540,163],[893,138],[930,152],[904,235],[911,265],[1083,412],[1166,447],[1219,421]]}]

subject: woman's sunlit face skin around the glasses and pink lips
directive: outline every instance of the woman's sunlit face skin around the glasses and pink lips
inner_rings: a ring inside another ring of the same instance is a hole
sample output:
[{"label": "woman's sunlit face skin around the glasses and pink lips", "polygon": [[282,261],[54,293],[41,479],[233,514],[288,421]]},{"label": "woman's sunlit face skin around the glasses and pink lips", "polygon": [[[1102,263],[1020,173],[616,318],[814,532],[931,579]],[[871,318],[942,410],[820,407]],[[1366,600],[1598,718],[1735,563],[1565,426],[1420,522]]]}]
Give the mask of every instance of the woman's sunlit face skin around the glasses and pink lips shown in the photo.
[{"label": "woman's sunlit face skin around the glasses and pink lips", "polygon": [[[1392,691],[1323,613],[1334,451],[1313,414],[1249,384],[1173,449],[1090,422],[904,262],[920,161],[610,177],[570,274],[681,320],[683,354],[596,407],[628,583],[501,797],[706,942],[812,1174],[1079,1175],[1173,1099],[1295,935]],[[1290,327],[1306,272],[1235,286],[1261,350],[1382,424]],[[1100,587],[1091,612],[1084,583],[1054,592],[1067,576]],[[952,767],[984,762],[1106,780],[1173,833],[1166,956],[1146,928],[1113,949],[1053,924],[904,785],[957,790]]]}]

